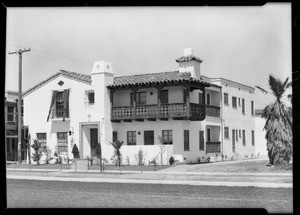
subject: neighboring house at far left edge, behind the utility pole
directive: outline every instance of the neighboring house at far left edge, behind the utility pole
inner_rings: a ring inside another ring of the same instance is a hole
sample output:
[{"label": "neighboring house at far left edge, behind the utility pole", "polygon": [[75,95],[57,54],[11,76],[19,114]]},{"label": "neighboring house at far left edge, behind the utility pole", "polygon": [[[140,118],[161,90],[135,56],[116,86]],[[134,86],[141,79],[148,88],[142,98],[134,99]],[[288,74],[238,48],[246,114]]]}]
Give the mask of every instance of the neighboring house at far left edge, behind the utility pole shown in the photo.
[{"label": "neighboring house at far left edge, behind the utility pole", "polygon": [[[5,141],[6,141],[6,160],[18,160],[18,92],[6,91],[5,92]],[[25,133],[27,128],[22,127],[22,160],[26,160],[26,146],[24,145],[24,129]]]}]

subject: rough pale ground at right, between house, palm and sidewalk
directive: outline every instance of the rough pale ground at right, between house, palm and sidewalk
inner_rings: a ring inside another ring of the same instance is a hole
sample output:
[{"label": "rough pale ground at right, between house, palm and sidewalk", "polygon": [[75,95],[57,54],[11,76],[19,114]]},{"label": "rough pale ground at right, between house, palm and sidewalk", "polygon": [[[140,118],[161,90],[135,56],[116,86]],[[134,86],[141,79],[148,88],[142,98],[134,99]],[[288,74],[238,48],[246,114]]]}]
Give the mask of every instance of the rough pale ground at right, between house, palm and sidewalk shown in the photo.
[{"label": "rough pale ground at right, between house, palm and sidewalk", "polygon": [[256,173],[284,173],[292,172],[293,165],[289,165],[287,168],[268,167],[268,160],[249,160],[244,162],[232,162],[224,161],[223,163],[216,164],[197,164],[189,167],[189,172],[256,172]]}]

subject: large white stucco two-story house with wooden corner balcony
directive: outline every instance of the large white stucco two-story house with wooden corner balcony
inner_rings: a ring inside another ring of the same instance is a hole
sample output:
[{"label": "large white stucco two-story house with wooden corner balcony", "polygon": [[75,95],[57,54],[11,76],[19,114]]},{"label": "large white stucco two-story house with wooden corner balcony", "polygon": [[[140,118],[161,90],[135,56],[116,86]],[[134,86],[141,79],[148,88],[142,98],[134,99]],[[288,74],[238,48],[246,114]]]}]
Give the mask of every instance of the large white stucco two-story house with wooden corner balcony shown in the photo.
[{"label": "large white stucco two-story house with wooden corner balcony", "polygon": [[192,49],[176,62],[179,71],[121,77],[103,61],[91,75],[61,70],[24,93],[24,124],[32,138],[70,157],[75,143],[84,158],[98,154],[101,142],[110,161],[116,138],[130,164],[141,148],[146,163],[254,156],[254,88],[202,76]]}]

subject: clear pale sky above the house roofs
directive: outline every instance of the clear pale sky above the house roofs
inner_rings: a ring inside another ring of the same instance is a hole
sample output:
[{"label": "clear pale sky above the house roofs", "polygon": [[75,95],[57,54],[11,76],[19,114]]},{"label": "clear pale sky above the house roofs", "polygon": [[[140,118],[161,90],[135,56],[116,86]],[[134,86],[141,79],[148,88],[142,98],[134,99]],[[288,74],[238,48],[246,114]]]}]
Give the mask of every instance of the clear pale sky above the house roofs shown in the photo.
[{"label": "clear pale sky above the house roofs", "polygon": [[[7,8],[6,90],[22,91],[60,69],[90,74],[109,61],[115,76],[178,70],[193,48],[201,75],[268,89],[268,76],[291,80],[291,3],[252,7]],[[256,93],[256,108],[273,97]]]}]

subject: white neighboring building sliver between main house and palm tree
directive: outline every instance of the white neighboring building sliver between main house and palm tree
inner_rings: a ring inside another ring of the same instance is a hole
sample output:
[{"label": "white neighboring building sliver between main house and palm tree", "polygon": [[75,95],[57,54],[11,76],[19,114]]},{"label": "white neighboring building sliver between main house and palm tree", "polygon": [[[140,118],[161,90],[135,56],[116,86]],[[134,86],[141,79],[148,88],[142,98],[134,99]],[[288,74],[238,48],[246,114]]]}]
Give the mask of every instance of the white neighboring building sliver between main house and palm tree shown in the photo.
[{"label": "white neighboring building sliver between main house and palm tree", "polygon": [[256,140],[256,147],[255,153],[258,156],[268,156],[267,151],[267,140],[266,140],[266,131],[263,130],[266,120],[262,118],[263,109],[255,110],[255,140]]}]

